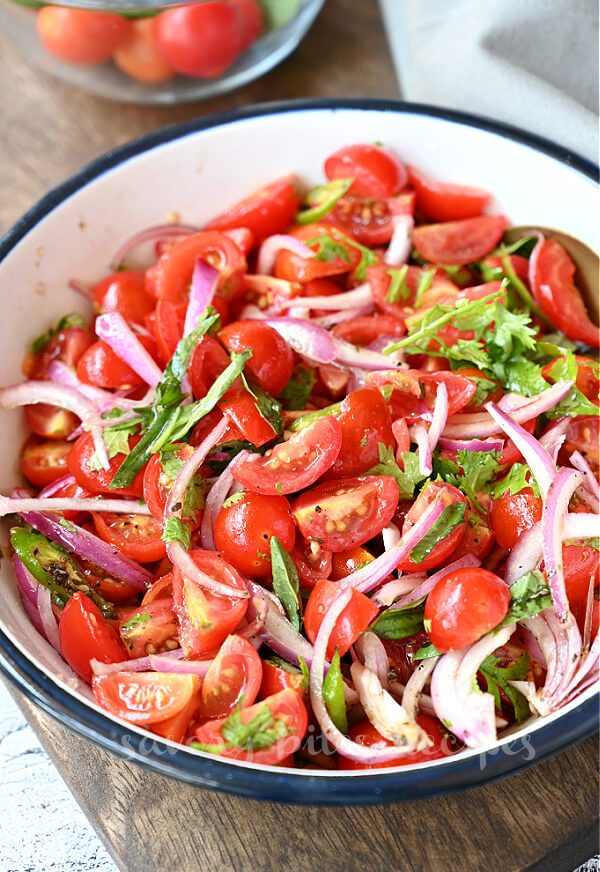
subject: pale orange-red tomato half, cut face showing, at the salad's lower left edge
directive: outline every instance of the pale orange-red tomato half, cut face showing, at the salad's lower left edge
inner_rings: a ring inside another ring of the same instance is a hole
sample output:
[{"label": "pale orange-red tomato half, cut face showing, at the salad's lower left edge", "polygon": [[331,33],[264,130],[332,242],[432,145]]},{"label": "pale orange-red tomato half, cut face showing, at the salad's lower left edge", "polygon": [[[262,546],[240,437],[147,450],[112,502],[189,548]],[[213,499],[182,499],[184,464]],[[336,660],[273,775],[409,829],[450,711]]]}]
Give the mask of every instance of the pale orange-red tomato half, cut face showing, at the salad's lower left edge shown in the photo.
[{"label": "pale orange-red tomato half, cut face showing, at the salad's lower left edge", "polygon": [[179,714],[199,687],[197,675],[172,672],[115,672],[96,675],[96,702],[132,724],[157,724]]}]

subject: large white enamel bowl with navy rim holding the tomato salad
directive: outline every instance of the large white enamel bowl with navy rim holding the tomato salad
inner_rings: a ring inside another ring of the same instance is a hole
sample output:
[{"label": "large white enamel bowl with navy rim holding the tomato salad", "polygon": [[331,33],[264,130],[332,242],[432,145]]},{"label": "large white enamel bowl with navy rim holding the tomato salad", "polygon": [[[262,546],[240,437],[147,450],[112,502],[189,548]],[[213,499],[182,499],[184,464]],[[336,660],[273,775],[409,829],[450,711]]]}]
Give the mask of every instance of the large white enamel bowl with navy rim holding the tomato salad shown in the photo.
[{"label": "large white enamel bowl with navy rim holding the tomato salad", "polygon": [[[106,274],[132,233],[176,211],[203,222],[289,172],[322,178],[323,159],[353,142],[381,141],[432,177],[494,193],[489,211],[512,224],[556,227],[598,250],[595,168],[536,137],[485,119],[431,107],[368,101],[271,105],[201,119],[150,134],[84,168],[51,191],[0,243],[2,382],[21,379],[31,340],[82,299],[77,277]],[[19,480],[20,415],[0,413],[0,492]],[[365,773],[269,770],[224,762],[148,738],[101,711],[89,690],[37,635],[21,610],[10,563],[0,570],[0,666],[44,708],[116,753],[203,786],[303,802],[365,802],[424,796],[517,771],[589,735],[594,690],[561,712],[531,720],[491,752]],[[482,764],[483,760],[483,764]]]}]

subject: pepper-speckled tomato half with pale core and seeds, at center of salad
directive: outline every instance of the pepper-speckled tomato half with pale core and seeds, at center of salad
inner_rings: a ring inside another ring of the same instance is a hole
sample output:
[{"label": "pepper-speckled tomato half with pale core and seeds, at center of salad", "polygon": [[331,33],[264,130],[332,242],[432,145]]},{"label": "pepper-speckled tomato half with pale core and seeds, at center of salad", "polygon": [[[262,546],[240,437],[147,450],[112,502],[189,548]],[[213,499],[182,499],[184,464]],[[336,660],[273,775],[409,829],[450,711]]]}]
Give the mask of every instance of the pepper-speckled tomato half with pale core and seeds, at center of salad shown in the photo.
[{"label": "pepper-speckled tomato half with pale core and seeds, at center of salad", "polygon": [[366,475],[327,481],[296,498],[292,512],[306,539],[328,551],[347,551],[368,542],[389,524],[398,503],[390,476]]}]

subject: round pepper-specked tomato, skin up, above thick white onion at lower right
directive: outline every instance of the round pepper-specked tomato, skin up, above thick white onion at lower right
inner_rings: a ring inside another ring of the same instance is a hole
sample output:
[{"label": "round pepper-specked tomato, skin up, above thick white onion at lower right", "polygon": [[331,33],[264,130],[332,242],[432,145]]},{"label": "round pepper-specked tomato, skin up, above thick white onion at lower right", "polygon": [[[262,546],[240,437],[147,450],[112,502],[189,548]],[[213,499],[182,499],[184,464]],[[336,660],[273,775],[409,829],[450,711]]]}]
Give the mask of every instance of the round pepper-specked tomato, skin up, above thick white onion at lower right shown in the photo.
[{"label": "round pepper-specked tomato, skin up, above thick white onion at lower right", "polygon": [[438,651],[458,651],[497,627],[509,603],[509,588],[493,572],[457,569],[427,597],[425,627]]}]

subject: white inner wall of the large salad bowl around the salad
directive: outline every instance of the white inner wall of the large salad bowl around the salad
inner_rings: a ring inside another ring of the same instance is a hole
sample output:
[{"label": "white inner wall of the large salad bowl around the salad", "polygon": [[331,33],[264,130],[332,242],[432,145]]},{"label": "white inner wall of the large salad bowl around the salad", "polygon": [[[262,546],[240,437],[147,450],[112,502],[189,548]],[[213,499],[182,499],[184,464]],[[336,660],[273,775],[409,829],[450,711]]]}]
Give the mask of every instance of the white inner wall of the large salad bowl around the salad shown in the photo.
[{"label": "white inner wall of the large salad bowl around the salad", "polygon": [[[68,282],[72,278],[94,282],[106,274],[111,255],[126,237],[163,223],[173,213],[186,223],[202,225],[240,197],[290,172],[314,184],[322,178],[324,157],[352,142],[382,142],[432,177],[492,191],[489,211],[503,212],[512,224],[560,228],[599,248],[596,186],[582,172],[525,142],[423,114],[422,109],[267,110],[187,131],[172,140],[168,136],[164,141],[160,135],[155,137],[154,147],[115,166],[109,156],[104,165],[84,171],[71,185],[72,192],[50,195],[38,206],[43,217],[9,247],[0,263],[3,384],[21,380],[24,351],[49,325],[66,312],[89,314]],[[0,492],[4,494],[20,480],[22,437],[20,414],[0,411]],[[56,692],[60,688],[96,708],[88,689],[29,624],[7,560],[0,564],[0,603],[0,627],[51,679]],[[584,699],[592,694],[588,691]],[[572,704],[569,710],[575,707]],[[530,722],[515,735],[535,732],[559,717]],[[104,714],[102,718],[114,733],[118,721]],[[465,752],[465,756],[476,753]],[[429,764],[435,769],[448,765]],[[311,781],[329,776],[295,773],[295,778]]]}]

